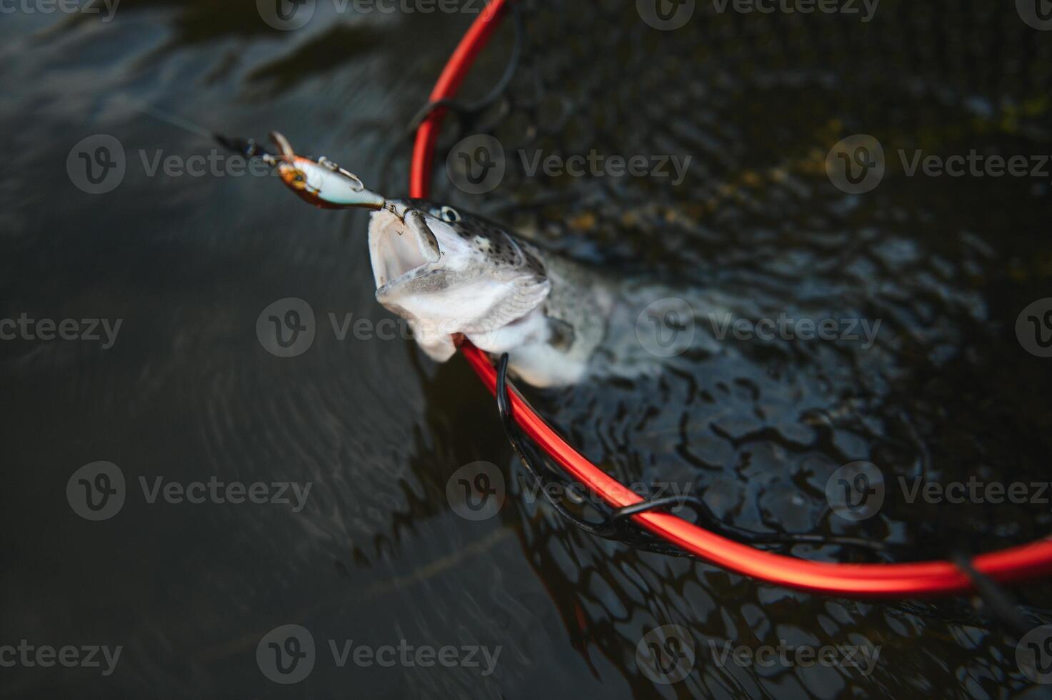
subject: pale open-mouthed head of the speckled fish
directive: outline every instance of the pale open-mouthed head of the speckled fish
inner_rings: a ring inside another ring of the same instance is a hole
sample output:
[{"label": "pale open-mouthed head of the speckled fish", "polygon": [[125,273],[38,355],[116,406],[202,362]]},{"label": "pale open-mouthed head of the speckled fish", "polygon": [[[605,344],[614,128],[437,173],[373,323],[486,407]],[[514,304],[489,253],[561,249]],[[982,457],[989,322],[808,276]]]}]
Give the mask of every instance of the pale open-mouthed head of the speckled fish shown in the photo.
[{"label": "pale open-mouthed head of the speckled fish", "polygon": [[495,223],[424,200],[391,200],[373,212],[369,256],[377,300],[432,339],[499,332],[551,289],[537,248]]}]

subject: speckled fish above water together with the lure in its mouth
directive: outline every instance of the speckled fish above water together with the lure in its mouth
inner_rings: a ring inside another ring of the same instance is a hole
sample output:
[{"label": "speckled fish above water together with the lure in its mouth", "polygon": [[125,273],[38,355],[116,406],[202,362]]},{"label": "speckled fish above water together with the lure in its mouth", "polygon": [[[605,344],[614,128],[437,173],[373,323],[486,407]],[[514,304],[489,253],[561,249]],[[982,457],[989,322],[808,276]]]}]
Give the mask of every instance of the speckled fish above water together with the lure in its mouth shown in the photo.
[{"label": "speckled fish above water together with the lure in its mouth", "polygon": [[327,158],[296,155],[271,133],[278,153],[251,140],[217,137],[262,158],[300,199],[323,208],[371,209],[368,249],[377,301],[402,317],[436,362],[460,337],[537,387],[572,385],[589,372],[615,305],[613,283],[498,223],[423,199],[387,199]]}]

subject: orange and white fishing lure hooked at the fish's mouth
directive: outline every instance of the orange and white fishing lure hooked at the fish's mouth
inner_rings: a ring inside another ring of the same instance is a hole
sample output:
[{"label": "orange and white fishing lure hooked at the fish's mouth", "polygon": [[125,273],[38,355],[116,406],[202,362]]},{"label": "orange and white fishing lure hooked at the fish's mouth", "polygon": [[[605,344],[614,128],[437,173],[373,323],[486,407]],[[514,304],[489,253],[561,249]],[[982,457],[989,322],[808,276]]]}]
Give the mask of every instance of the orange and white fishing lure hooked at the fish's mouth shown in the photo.
[{"label": "orange and white fishing lure hooked at the fish's mouth", "polygon": [[352,206],[382,209],[387,200],[365,187],[362,179],[322,156],[313,160],[296,155],[296,151],[281,133],[271,132],[270,140],[277,153],[267,151],[254,139],[230,138],[217,134],[216,141],[245,158],[259,158],[277,167],[278,175],[300,199],[323,208]]}]

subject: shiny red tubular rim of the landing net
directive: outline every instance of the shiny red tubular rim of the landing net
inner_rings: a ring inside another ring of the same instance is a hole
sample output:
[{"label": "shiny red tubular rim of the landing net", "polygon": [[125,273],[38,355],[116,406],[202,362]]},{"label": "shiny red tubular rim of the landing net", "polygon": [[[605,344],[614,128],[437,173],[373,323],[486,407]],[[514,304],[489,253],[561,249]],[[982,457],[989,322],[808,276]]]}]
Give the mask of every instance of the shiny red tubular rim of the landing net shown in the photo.
[{"label": "shiny red tubular rim of the landing net", "polygon": [[[431,101],[452,98],[476,57],[486,45],[507,12],[507,0],[492,0],[471,24],[439,77]],[[427,197],[434,142],[445,116],[436,109],[417,131],[410,169],[411,197]],[[471,343],[461,352],[490,391],[497,391],[497,371],[486,355]],[[567,444],[532,408],[510,393],[515,422],[568,474],[600,496],[611,507],[641,502],[636,494],[619,483]],[[839,564],[815,562],[771,554],[734,542],[677,516],[648,512],[632,520],[653,535],[727,571],[769,583],[815,593],[847,597],[915,598],[963,594],[972,588],[971,579],[948,561],[905,564]],[[1002,583],[1012,583],[1052,575],[1052,538],[975,557],[974,569]]]}]

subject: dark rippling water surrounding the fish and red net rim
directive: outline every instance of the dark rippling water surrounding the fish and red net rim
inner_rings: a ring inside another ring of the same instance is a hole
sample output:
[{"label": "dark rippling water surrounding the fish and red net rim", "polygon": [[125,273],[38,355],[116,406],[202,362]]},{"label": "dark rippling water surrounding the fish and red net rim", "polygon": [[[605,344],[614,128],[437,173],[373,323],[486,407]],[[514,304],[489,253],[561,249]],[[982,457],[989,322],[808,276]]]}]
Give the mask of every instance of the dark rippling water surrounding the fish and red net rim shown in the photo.
[{"label": "dark rippling water surrounding the fish and red net rim", "polygon": [[[450,124],[440,163],[459,136],[488,132],[508,151],[509,175],[485,197],[440,178],[438,197],[610,274],[746,300],[747,318],[883,321],[868,348],[716,342],[701,323],[699,342],[661,375],[534,393],[598,464],[626,482],[687,485],[742,527],[901,545],[885,559],[1048,533],[1040,503],[910,504],[898,494],[851,523],[825,499],[830,475],[857,460],[889,482],[1048,478],[1049,360],[1026,352],[1015,326],[1052,294],[1052,178],[907,177],[897,152],[1052,153],[1052,33],[1010,4],[920,4],[885,0],[868,23],[708,8],[656,34],[630,6],[554,3],[524,20],[524,58],[502,98]],[[130,0],[110,22],[3,16],[0,319],[122,324],[106,349],[0,343],[0,643],[123,652],[105,677],[2,667],[0,694],[1047,696],[1021,673],[1015,638],[967,600],[809,596],[567,527],[526,498],[492,402],[461,360],[436,366],[407,340],[332,331],[329,314],[389,318],[372,298],[364,217],[306,207],[270,178],[231,175],[226,159],[218,174],[150,174],[159,154],[208,155],[201,129],[279,128],[404,194],[406,124],[472,17],[339,14],[323,2],[305,27],[277,32],[251,3]],[[493,84],[512,34],[498,34],[472,94]],[[856,133],[887,154],[884,181],[864,195],[825,172],[832,145]],[[98,134],[118,139],[126,171],[90,195],[66,161]],[[671,187],[526,178],[520,147],[694,158]],[[317,336],[283,359],[256,326],[288,297],[310,304]],[[120,467],[127,496],[113,518],[89,522],[66,485],[96,461]],[[511,484],[500,515],[479,522],[446,498],[450,477],[476,461]],[[299,512],[149,502],[140,479],[151,488],[158,477],[311,491]],[[1047,584],[1012,594],[1034,626],[1052,620]],[[285,624],[309,629],[318,647],[296,685],[271,682],[257,662],[261,639]],[[663,624],[688,629],[699,649],[673,685],[636,662],[643,635]],[[482,667],[340,667],[329,640],[501,652],[489,674],[481,657]],[[762,667],[720,663],[713,648],[727,642],[882,653],[871,673]]]}]

